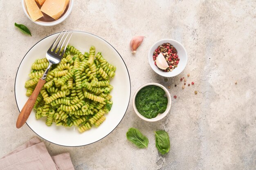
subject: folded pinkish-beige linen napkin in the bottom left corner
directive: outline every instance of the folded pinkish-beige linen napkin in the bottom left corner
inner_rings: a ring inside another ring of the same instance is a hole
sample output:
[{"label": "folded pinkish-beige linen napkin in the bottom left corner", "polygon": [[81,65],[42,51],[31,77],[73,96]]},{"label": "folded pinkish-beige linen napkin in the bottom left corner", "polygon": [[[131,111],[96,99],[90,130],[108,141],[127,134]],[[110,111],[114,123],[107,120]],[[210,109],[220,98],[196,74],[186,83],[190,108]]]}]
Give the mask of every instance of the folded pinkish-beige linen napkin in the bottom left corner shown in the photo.
[{"label": "folded pinkish-beige linen napkin in the bottom left corner", "polygon": [[0,158],[0,170],[74,170],[69,153],[51,157],[37,137]]}]

